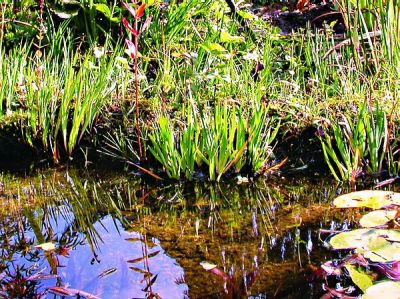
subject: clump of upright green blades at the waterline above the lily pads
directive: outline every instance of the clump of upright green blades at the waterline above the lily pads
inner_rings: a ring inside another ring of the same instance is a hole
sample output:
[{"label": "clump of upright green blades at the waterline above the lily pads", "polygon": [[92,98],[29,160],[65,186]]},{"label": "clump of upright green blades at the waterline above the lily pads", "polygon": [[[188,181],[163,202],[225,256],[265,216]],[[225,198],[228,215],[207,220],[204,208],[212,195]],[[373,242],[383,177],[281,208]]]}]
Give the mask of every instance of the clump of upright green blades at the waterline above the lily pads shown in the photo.
[{"label": "clump of upright green blades at the waterline above the lily pads", "polygon": [[354,121],[342,115],[341,121],[331,124],[331,131],[332,136],[325,128],[319,138],[325,161],[337,180],[354,182],[361,174],[381,173],[385,163],[392,161],[388,120],[378,104],[374,109],[363,104]]}]

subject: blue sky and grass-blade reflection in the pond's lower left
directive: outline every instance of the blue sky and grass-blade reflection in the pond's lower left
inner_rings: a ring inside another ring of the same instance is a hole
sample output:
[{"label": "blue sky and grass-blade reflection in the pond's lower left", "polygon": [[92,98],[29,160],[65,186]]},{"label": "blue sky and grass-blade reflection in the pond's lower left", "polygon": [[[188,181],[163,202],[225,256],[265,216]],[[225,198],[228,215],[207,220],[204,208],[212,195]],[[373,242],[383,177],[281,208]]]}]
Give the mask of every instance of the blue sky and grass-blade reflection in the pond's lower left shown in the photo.
[{"label": "blue sky and grass-blade reflection in the pond's lower left", "polygon": [[0,217],[0,298],[185,297],[184,271],[156,238],[126,231],[110,197],[94,196],[98,186],[66,183]]}]

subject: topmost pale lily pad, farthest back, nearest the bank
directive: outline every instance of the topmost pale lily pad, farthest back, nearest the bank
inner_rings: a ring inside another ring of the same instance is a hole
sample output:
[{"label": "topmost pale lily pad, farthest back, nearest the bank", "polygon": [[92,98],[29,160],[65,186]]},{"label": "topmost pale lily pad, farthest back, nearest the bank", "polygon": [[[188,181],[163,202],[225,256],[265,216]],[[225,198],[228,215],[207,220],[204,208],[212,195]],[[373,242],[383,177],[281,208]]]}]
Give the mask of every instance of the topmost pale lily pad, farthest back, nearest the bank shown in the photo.
[{"label": "topmost pale lily pad, farthest back, nearest the bank", "polygon": [[390,205],[400,205],[400,193],[382,190],[364,190],[336,197],[333,204],[338,208],[382,209]]}]

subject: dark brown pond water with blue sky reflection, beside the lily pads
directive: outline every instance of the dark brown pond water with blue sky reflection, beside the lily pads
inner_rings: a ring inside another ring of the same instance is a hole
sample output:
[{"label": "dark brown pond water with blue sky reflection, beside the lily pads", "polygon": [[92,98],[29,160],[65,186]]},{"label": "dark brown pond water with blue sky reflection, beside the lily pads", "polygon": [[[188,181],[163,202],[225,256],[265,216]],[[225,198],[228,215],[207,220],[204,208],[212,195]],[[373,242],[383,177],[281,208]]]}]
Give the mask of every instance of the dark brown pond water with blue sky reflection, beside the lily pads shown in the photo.
[{"label": "dark brown pond water with blue sky reflection, beside the lily pads", "polygon": [[151,186],[61,169],[0,181],[0,298],[319,298],[310,273],[331,258],[319,229],[352,219],[318,178]]}]

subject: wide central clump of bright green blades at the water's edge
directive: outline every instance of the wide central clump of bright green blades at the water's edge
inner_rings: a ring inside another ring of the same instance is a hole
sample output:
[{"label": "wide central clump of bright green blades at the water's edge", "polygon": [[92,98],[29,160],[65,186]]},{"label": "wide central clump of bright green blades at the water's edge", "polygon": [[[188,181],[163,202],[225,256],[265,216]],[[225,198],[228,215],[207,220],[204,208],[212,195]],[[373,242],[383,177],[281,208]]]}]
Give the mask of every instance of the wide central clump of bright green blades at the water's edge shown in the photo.
[{"label": "wide central clump of bright green blades at the water's edge", "polygon": [[[200,118],[194,111],[199,110]],[[263,173],[271,162],[272,147],[279,124],[268,118],[263,105],[240,109],[217,104],[214,111],[188,105],[184,127],[174,127],[166,116],[158,118],[150,134],[150,152],[163,165],[169,178],[182,174],[192,179],[195,166],[203,163],[210,180],[219,181],[229,170],[248,166]],[[246,121],[248,119],[248,122]]]}]

